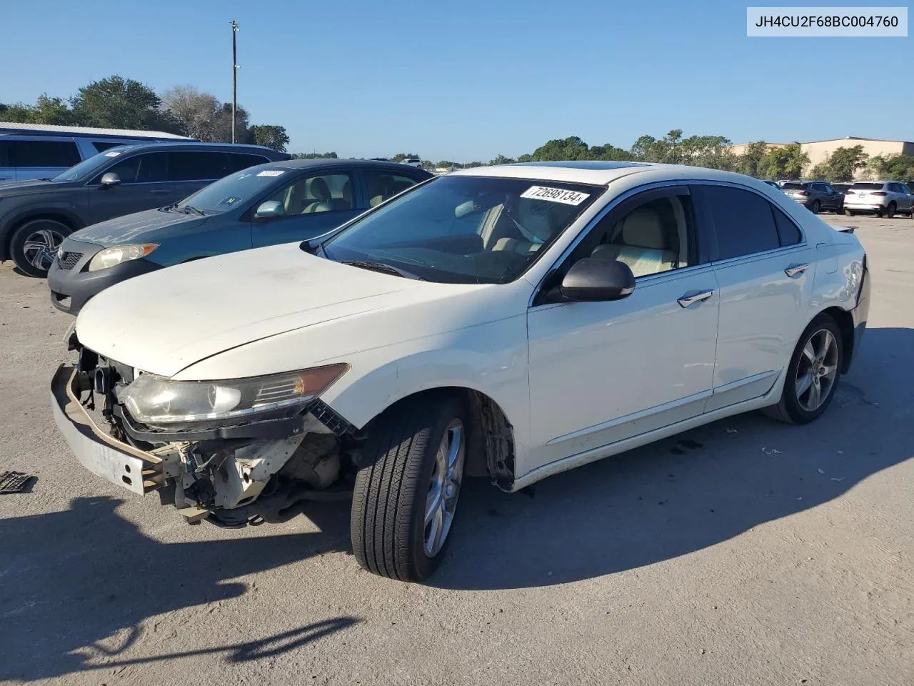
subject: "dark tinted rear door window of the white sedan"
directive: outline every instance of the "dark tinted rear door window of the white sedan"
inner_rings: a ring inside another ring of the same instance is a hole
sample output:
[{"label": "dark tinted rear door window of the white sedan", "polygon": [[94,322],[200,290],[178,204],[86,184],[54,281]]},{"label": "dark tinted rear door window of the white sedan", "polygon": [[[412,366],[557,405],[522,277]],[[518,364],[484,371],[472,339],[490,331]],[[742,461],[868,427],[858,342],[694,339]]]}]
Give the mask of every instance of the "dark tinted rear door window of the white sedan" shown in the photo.
[{"label": "dark tinted rear door window of the white sedan", "polygon": [[768,200],[728,186],[704,186],[702,192],[714,220],[718,260],[781,247]]}]

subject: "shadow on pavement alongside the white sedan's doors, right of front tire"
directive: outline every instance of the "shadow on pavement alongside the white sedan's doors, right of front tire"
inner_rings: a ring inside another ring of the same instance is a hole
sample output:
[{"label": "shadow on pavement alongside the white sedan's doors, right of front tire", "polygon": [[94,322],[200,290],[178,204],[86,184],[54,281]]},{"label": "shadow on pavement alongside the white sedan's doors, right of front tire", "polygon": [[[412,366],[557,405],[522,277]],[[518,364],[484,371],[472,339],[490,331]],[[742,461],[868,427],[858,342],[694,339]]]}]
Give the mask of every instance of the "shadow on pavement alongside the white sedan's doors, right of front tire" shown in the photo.
[{"label": "shadow on pavement alongside the white sedan's doors, right of front tire", "polygon": [[914,455],[914,330],[866,332],[816,422],[737,415],[536,485],[532,498],[468,481],[430,580],[455,589],[578,581],[695,552],[838,498]]}]

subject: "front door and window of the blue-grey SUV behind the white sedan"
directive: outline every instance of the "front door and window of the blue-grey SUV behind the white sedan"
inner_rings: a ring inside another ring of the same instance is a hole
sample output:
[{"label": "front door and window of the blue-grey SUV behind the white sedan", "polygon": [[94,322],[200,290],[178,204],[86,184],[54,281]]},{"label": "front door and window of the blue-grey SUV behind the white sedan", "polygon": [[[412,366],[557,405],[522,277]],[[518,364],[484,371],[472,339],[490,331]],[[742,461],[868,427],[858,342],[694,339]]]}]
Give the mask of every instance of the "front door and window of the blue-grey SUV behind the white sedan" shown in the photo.
[{"label": "front door and window of the blue-grey SUV behind the white sedan", "polygon": [[[285,215],[258,218],[258,206],[268,200],[282,203]],[[254,204],[250,209],[251,242],[257,248],[320,236],[362,212],[357,205],[353,171],[309,170]]]}]

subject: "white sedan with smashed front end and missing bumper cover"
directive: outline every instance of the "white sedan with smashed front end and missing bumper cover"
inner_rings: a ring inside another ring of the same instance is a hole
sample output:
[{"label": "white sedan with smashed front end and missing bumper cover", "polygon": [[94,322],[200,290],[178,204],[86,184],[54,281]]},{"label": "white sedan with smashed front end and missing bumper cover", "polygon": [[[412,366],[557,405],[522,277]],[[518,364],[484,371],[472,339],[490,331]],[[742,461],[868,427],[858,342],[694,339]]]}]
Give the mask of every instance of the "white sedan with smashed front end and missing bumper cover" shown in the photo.
[{"label": "white sedan with smashed front end and missing bumper cover", "polygon": [[53,406],[84,466],[191,521],[351,494],[358,562],[421,581],[466,475],[515,491],[731,414],[813,421],[868,293],[852,230],[749,177],[474,168],[102,292]]}]

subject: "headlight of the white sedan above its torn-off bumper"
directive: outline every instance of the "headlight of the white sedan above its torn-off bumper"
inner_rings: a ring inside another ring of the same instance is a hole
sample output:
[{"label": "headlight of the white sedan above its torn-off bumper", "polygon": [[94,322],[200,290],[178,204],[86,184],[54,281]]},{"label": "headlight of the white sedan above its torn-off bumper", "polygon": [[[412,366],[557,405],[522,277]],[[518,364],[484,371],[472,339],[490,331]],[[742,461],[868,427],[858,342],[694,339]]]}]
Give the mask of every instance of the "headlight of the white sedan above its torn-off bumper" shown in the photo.
[{"label": "headlight of the white sedan above its torn-off bumper", "polygon": [[333,364],[225,381],[171,381],[141,374],[119,398],[134,419],[146,424],[220,421],[302,405],[348,369],[347,364]]}]

